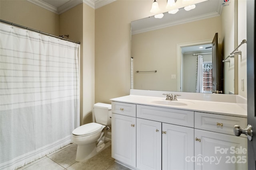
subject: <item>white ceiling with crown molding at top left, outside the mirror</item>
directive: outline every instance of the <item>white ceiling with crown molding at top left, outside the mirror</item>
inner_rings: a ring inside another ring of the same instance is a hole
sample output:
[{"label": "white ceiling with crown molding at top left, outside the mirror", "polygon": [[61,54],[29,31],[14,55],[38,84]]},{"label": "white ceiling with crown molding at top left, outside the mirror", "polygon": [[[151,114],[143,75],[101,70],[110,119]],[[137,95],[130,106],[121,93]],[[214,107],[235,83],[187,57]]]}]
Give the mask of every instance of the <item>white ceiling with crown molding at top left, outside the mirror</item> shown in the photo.
[{"label": "white ceiling with crown molding at top left, outside the mirror", "polygon": [[56,14],[61,14],[80,3],[86,3],[88,6],[97,9],[115,0],[28,0],[42,8],[50,10]]}]

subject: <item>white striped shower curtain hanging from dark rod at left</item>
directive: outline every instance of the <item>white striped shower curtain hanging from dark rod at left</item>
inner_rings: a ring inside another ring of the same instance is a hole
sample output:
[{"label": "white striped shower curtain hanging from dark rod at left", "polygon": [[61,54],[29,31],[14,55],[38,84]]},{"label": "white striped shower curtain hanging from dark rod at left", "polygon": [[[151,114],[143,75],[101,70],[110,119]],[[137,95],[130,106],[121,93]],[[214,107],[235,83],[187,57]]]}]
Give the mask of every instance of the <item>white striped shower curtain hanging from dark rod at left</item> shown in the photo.
[{"label": "white striped shower curtain hanging from dark rod at left", "polygon": [[80,45],[0,23],[0,169],[71,143]]}]

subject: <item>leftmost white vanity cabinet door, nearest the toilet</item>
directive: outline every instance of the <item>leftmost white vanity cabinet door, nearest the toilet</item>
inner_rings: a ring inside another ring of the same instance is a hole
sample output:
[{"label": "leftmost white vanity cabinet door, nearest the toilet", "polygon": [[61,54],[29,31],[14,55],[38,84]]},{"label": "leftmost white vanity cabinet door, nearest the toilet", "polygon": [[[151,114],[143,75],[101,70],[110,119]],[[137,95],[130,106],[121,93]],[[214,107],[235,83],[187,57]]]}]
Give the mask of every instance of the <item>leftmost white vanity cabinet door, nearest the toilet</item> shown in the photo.
[{"label": "leftmost white vanity cabinet door, nearest the toilet", "polygon": [[136,167],[136,118],[112,113],[112,157]]}]

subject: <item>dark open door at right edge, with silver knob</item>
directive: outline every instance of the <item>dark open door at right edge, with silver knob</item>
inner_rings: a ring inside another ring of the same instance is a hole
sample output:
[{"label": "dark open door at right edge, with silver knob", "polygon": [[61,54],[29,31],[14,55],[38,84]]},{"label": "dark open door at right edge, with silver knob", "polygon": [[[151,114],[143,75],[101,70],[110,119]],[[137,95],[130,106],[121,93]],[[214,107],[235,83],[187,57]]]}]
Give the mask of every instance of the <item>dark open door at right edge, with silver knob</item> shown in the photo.
[{"label": "dark open door at right edge, with silver knob", "polygon": [[[255,1],[247,1],[247,123],[256,132],[255,115]],[[244,128],[244,127],[242,127]],[[256,168],[256,135],[248,140],[248,169]]]}]

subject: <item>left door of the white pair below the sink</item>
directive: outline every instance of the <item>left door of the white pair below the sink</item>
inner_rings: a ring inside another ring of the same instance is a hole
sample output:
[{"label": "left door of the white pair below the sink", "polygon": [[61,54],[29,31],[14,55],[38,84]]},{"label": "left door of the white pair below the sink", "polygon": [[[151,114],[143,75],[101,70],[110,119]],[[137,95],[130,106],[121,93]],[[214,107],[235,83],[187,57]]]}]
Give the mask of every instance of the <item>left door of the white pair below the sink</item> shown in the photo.
[{"label": "left door of the white pair below the sink", "polygon": [[161,170],[161,122],[137,118],[137,169]]}]

